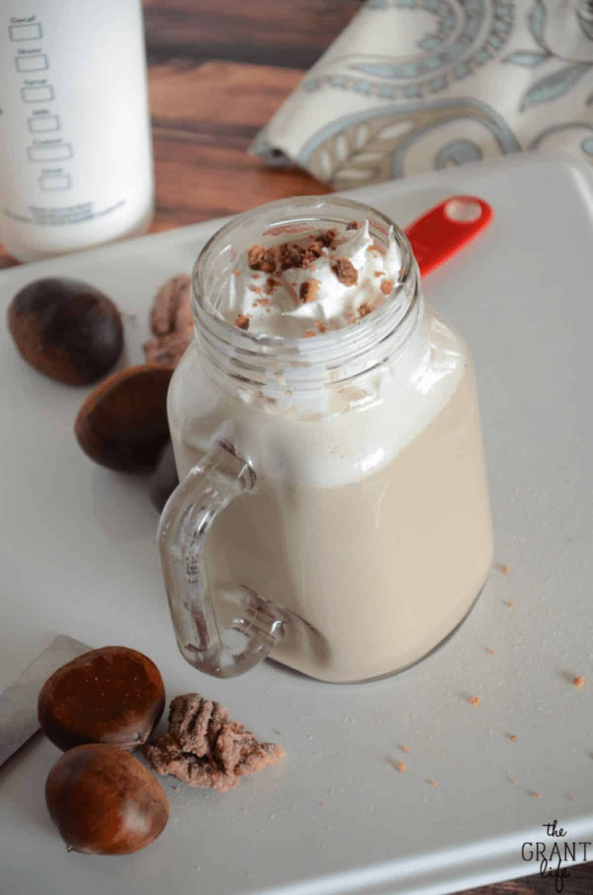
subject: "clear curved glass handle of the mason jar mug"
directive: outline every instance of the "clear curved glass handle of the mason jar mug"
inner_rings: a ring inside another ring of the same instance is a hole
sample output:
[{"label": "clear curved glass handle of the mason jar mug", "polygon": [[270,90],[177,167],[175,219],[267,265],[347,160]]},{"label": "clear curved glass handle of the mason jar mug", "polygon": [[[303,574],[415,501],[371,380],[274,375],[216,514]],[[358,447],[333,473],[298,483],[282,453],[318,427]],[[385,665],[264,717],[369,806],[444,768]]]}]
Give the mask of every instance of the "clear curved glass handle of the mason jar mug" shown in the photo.
[{"label": "clear curved glass handle of the mason jar mug", "polygon": [[[291,615],[242,587],[241,613],[219,630],[204,565],[208,532],[219,513],[253,491],[255,482],[249,461],[220,439],[177,485],[160,517],[160,563],[177,646],[194,668],[215,678],[235,678],[265,659],[283,638]],[[231,650],[224,635],[242,648]]]}]

